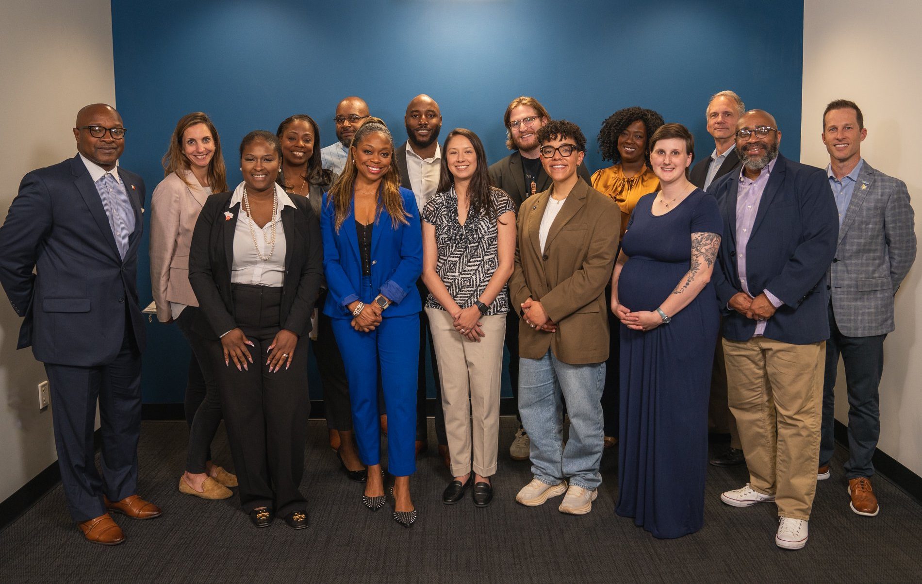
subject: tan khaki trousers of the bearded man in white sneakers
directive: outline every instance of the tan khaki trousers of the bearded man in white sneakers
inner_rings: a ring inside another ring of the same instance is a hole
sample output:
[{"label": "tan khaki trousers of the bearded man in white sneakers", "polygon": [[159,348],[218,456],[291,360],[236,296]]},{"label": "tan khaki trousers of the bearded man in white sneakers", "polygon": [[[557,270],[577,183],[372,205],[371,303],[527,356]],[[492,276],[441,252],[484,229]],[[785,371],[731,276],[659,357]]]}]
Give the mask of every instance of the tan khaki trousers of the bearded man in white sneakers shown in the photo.
[{"label": "tan khaki trousers of the bearded man in white sneakers", "polygon": [[826,342],[724,340],[727,394],[750,485],[778,515],[809,519],[816,493]]}]

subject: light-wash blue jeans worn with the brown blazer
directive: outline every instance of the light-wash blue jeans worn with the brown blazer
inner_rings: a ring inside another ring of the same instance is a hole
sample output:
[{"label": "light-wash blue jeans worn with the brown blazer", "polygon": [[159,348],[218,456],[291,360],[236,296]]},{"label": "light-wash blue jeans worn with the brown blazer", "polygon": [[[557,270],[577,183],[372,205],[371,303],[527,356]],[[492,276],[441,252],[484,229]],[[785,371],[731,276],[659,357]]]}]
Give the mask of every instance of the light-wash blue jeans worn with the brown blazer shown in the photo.
[{"label": "light-wash blue jeans worn with the brown blazer", "polygon": [[[550,351],[519,359],[519,413],[531,440],[531,472],[541,483],[570,484],[593,491],[602,483],[602,390],[605,364],[565,364]],[[570,439],[563,443],[563,408]]]}]

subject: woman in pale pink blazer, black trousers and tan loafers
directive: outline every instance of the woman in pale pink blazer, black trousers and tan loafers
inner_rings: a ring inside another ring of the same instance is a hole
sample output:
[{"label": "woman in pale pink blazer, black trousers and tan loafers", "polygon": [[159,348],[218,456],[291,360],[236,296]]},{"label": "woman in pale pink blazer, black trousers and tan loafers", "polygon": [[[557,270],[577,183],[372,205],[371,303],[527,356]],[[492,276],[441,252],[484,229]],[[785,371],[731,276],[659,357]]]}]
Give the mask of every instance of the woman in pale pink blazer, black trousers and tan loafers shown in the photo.
[{"label": "woman in pale pink blazer, black trousers and tan loafers", "polygon": [[163,156],[164,179],[150,204],[150,282],[157,319],[175,321],[189,344],[192,359],[185,392],[189,423],[186,468],[179,490],[205,499],[226,499],[237,477],[211,462],[211,440],[221,421],[214,372],[205,358],[205,340],[195,332],[201,316],[189,285],[189,245],[195,221],[212,192],[228,190],[218,131],[207,114],[184,115]]}]

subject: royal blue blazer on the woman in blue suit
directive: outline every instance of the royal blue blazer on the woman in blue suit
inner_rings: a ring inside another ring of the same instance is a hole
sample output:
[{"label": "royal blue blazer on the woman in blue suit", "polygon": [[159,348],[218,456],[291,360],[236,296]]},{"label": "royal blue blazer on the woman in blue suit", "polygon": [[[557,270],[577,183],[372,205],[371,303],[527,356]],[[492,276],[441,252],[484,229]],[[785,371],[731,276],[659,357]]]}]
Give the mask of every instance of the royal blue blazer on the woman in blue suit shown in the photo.
[{"label": "royal blue blazer on the woman in blue suit", "polygon": [[[320,232],[324,239],[324,274],[326,295],[324,314],[331,318],[352,318],[349,304],[360,300],[361,256],[359,234],[355,230],[355,209],[336,232],[335,210],[324,193],[320,214]],[[372,229],[372,291],[384,295],[393,304],[384,311],[384,317],[410,316],[422,310],[416,280],[422,273],[422,228],[420,211],[413,192],[401,187],[404,209],[409,213],[408,224],[391,225],[386,209]],[[370,302],[372,298],[361,298]]]}]

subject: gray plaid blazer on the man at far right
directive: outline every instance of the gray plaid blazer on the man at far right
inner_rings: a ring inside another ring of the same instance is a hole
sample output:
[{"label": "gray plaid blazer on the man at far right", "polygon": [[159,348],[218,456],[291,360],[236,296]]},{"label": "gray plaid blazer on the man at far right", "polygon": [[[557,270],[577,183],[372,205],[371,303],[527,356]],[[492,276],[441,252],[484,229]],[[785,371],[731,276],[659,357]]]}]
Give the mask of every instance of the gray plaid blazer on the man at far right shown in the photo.
[{"label": "gray plaid blazer on the man at far right", "polygon": [[871,337],[893,330],[893,294],[915,259],[905,183],[865,161],[829,267],[835,324],[842,334]]}]

